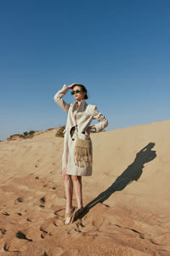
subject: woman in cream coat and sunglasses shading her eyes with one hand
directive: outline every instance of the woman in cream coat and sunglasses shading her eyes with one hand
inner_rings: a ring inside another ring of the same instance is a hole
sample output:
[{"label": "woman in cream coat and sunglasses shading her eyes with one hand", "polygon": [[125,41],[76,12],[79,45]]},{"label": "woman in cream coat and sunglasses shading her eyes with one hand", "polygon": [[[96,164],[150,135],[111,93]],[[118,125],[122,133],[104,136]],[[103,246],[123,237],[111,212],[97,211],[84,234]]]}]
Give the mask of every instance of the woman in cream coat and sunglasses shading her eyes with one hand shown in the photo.
[{"label": "woman in cream coat and sunglasses shading her eyes with one hand", "polygon": [[[77,102],[67,104],[63,96],[72,90],[71,94]],[[87,90],[82,84],[64,84],[54,96],[60,108],[63,108],[67,116],[67,122],[64,131],[64,152],[62,157],[62,177],[65,184],[66,207],[65,207],[65,224],[71,224],[74,221],[75,213],[83,212],[82,204],[82,176],[92,175],[92,142],[90,131],[95,129],[96,132],[103,130],[108,121],[105,116],[99,113],[94,105],[89,105],[85,100],[88,99]],[[99,121],[98,124],[90,126],[93,119]],[[77,147],[77,143],[87,144]],[[78,149],[77,149],[78,148]],[[80,149],[80,150],[79,150]],[[76,153],[77,152],[77,153]],[[74,187],[77,198],[77,207],[72,207],[73,183],[71,176],[74,177]]]}]

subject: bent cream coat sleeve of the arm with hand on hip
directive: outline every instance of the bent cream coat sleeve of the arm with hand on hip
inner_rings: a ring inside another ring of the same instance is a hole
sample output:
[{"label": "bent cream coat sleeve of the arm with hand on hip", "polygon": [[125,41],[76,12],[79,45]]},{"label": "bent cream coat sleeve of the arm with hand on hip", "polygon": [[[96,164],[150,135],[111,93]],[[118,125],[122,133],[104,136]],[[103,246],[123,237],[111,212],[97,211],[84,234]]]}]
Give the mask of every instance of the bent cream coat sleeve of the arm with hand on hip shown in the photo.
[{"label": "bent cream coat sleeve of the arm with hand on hip", "polygon": [[93,111],[93,118],[99,121],[98,124],[94,125],[96,132],[102,131],[108,125],[108,120],[105,119],[105,116],[102,113],[99,113],[96,106]]}]

